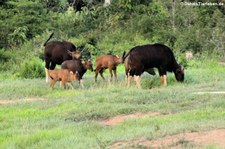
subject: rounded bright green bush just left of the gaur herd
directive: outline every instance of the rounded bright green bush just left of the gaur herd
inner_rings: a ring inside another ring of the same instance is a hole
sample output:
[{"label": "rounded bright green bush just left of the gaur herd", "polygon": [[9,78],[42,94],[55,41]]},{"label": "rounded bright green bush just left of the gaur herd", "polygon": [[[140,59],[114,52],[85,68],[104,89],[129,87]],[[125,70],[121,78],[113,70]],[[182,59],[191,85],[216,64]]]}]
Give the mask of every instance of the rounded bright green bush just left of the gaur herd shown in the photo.
[{"label": "rounded bright green bush just left of the gaur herd", "polygon": [[25,60],[19,69],[18,76],[22,78],[43,78],[44,66],[40,59]]}]

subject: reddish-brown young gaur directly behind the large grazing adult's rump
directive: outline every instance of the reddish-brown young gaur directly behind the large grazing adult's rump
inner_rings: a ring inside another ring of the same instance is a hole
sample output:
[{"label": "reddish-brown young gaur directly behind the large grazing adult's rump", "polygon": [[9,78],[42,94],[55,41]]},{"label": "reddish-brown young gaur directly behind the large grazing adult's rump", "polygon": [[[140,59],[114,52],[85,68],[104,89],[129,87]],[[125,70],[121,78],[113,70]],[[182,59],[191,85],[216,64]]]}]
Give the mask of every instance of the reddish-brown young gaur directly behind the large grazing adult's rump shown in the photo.
[{"label": "reddish-brown young gaur directly behind the large grazing adult's rump", "polygon": [[122,58],[117,55],[106,54],[98,57],[95,62],[95,81],[97,81],[98,73],[100,73],[101,77],[105,80],[103,72],[107,68],[109,68],[111,79],[113,77],[112,70],[114,73],[114,77],[117,78],[116,67],[120,63],[122,63]]}]

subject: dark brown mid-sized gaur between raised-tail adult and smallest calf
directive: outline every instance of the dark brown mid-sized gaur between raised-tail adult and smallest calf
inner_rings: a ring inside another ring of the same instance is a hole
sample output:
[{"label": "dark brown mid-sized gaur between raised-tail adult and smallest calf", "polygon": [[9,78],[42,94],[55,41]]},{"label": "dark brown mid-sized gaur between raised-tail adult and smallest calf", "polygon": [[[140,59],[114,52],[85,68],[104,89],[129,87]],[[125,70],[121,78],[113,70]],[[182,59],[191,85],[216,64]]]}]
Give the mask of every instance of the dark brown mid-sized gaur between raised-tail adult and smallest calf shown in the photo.
[{"label": "dark brown mid-sized gaur between raised-tail adult and smallest calf", "polygon": [[61,68],[69,69],[74,73],[78,72],[79,73],[78,81],[82,87],[83,87],[82,77],[84,73],[87,71],[87,69],[93,71],[92,62],[90,60],[88,61],[81,61],[79,59],[66,60],[62,63]]}]

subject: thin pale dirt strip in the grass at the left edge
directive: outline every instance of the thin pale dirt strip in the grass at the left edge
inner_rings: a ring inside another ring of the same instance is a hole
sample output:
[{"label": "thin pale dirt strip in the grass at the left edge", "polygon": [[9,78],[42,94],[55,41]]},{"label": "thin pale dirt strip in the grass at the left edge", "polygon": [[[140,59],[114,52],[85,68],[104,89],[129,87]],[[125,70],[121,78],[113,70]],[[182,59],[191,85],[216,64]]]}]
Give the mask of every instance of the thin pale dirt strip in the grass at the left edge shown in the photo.
[{"label": "thin pale dirt strip in the grass at the left edge", "polygon": [[0,105],[5,104],[16,104],[21,102],[34,102],[34,101],[44,101],[45,98],[27,98],[27,99],[16,99],[16,100],[0,100]]}]

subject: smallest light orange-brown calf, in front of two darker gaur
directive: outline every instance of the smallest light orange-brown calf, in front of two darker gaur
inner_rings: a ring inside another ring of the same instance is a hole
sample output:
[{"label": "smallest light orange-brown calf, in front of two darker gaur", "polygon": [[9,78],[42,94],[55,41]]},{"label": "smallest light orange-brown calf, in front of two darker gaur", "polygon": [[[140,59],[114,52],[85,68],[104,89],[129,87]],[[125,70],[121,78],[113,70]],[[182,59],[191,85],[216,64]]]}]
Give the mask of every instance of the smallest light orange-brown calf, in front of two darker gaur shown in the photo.
[{"label": "smallest light orange-brown calf, in front of two darker gaur", "polygon": [[70,82],[71,89],[74,89],[73,87],[73,81],[77,80],[79,78],[79,73],[76,72],[75,74],[68,70],[68,69],[55,69],[55,70],[49,70],[48,74],[51,78],[50,87],[53,89],[54,85],[57,81],[61,81],[61,87],[62,89],[65,89],[66,82]]}]

